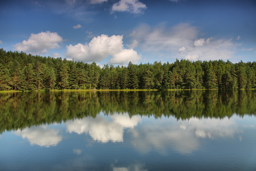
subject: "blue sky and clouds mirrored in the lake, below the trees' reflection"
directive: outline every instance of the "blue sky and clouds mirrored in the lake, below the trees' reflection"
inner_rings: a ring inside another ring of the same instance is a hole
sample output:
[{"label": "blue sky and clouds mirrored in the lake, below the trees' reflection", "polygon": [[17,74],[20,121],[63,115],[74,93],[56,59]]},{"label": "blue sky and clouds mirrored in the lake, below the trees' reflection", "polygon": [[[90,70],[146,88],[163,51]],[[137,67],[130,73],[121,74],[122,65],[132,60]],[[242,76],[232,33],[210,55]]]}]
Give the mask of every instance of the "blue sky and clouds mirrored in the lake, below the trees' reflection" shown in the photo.
[{"label": "blue sky and clouds mirrored in the lake, below the trees' reflection", "polygon": [[256,117],[247,115],[177,120],[100,112],[4,132],[0,164],[3,170],[252,170],[255,128]]}]

